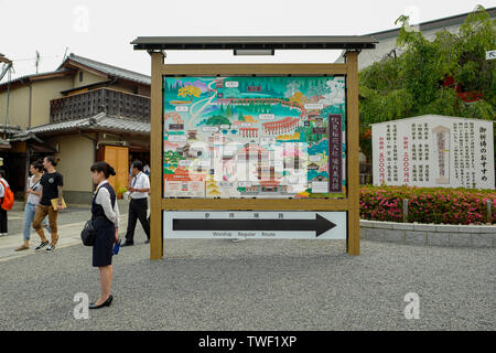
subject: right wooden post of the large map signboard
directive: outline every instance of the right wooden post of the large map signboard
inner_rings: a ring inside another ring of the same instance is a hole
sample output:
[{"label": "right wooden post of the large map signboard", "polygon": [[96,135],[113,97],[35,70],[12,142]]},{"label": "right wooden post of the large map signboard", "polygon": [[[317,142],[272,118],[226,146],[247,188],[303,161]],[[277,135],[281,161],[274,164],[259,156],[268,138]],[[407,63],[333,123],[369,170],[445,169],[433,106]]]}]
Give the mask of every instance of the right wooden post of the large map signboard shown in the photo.
[{"label": "right wooden post of the large map signboard", "polygon": [[359,116],[358,116],[358,53],[346,52],[346,101],[347,101],[347,192],[348,192],[348,235],[346,252],[360,254],[359,214]]}]

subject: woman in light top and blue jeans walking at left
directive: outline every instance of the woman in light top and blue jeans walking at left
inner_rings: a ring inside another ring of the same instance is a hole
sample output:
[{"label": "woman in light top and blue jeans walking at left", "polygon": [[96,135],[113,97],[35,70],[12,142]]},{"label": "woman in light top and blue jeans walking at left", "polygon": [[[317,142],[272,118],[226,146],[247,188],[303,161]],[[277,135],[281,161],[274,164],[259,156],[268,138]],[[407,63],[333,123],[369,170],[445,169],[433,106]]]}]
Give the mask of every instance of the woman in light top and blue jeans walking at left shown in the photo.
[{"label": "woman in light top and blue jeans walking at left", "polygon": [[[42,161],[35,161],[30,164],[30,173],[32,176],[28,179],[28,190],[25,207],[24,207],[24,244],[15,249],[15,252],[28,250],[30,248],[30,237],[31,237],[31,228],[33,224],[34,214],[36,212],[36,205],[40,202],[40,197],[42,194],[42,185],[40,185],[41,176],[43,175],[43,163]],[[43,220],[43,226],[48,229],[50,226],[46,218]]]}]

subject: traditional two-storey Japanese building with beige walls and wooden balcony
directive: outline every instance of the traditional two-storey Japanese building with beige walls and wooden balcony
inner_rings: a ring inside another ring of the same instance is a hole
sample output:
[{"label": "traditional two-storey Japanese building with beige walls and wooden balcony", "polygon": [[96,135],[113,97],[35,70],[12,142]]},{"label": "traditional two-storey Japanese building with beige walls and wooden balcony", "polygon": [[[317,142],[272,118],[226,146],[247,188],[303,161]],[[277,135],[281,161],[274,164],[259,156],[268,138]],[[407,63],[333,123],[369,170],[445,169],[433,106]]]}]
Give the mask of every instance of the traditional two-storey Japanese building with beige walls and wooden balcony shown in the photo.
[{"label": "traditional two-storey Japanese building with beige walls and wooden balcony", "polygon": [[117,191],[128,185],[130,160],[149,163],[150,84],[147,75],[75,54],[53,72],[0,84],[0,111],[9,97],[0,158],[18,197],[30,162],[50,154],[58,160],[68,203],[90,201],[96,161],[116,169],[110,183]]}]

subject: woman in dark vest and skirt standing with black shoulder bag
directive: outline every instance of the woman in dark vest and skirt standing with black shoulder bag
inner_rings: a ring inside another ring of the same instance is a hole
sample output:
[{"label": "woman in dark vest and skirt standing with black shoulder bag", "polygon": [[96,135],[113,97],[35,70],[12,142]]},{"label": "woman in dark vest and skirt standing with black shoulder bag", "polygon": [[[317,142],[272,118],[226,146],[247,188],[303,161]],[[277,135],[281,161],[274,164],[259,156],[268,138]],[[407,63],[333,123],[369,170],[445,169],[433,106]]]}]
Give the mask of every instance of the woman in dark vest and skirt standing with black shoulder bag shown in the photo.
[{"label": "woman in dark vest and skirt standing with black shoulder bag", "polygon": [[114,188],[108,178],[116,175],[116,171],[107,162],[97,162],[89,169],[93,183],[97,185],[91,202],[91,220],[96,231],[93,246],[93,266],[100,271],[101,295],[97,301],[89,304],[89,309],[110,307],[112,295],[112,253],[114,244],[119,243],[119,206]]}]

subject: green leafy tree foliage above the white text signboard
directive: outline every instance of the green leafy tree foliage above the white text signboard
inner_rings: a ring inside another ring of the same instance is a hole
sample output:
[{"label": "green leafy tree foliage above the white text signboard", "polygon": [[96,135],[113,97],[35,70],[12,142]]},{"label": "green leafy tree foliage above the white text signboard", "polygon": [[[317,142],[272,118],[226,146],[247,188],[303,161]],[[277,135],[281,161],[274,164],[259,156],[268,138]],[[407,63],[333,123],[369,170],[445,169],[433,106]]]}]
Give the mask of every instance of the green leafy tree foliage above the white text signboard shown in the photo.
[{"label": "green leafy tree foliage above the white text signboard", "polygon": [[[487,61],[485,52],[496,49],[496,21],[485,9],[478,6],[457,33],[443,30],[432,41],[408,26],[408,17],[398,22],[402,54],[359,73],[363,133],[370,124],[427,114],[495,120],[496,61]],[[453,84],[443,85],[450,77]],[[462,99],[472,92],[478,99]],[[360,141],[363,150],[370,150],[367,143]]]}]

